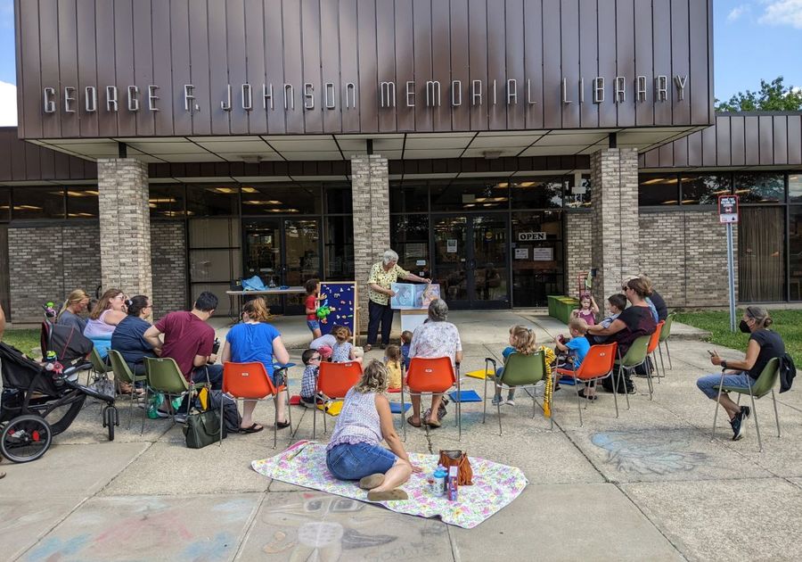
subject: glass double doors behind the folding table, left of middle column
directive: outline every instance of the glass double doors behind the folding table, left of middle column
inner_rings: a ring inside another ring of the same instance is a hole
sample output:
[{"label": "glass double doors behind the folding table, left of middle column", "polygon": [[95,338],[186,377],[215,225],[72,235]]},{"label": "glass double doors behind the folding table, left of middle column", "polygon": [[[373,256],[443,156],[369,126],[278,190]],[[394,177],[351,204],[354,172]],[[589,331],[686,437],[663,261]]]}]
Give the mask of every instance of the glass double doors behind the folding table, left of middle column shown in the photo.
[{"label": "glass double doors behind the folding table, left of middle column", "polygon": [[[320,278],[318,219],[245,219],[245,277],[258,276],[266,286],[302,286]],[[303,313],[303,294],[271,297],[272,312]]]}]

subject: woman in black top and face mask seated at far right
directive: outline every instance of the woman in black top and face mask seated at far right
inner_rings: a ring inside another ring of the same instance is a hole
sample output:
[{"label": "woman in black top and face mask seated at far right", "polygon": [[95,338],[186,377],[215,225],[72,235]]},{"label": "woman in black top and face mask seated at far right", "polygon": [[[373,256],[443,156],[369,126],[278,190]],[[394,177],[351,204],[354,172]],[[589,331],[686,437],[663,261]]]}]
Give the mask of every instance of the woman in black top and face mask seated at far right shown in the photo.
[{"label": "woman in black top and face mask seated at far right", "polygon": [[[763,372],[769,360],[785,354],[782,337],[768,329],[768,326],[771,325],[772,318],[769,318],[768,312],[764,308],[748,306],[739,325],[741,332],[750,334],[746,357],[740,361],[723,360],[717,353],[711,354],[710,362],[724,368],[725,386],[749,388],[755,384],[757,377]],[[732,441],[738,441],[743,437],[744,426],[751,411],[749,406],[739,406],[733,402],[727,393],[721,393],[719,398],[717,386],[721,382],[721,375],[707,375],[696,381],[696,385],[709,399],[716,400],[718,398],[718,403],[730,417]]]}]

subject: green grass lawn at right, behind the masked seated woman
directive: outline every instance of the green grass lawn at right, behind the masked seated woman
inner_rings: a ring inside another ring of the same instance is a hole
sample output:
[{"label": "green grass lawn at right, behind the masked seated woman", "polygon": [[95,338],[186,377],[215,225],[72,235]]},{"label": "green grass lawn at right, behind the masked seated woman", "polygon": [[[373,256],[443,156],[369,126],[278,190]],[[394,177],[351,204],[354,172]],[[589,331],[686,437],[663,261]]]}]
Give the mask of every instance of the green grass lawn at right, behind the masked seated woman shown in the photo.
[{"label": "green grass lawn at right, behind the masked seated woman", "polygon": [[[736,325],[741,322],[743,310],[737,310]],[[769,310],[774,323],[771,329],[782,335],[785,351],[796,361],[802,359],[802,310]],[[730,313],[727,311],[677,312],[676,321],[708,330],[713,336],[710,343],[746,351],[748,334],[730,332]],[[736,330],[738,327],[736,326]]]}]

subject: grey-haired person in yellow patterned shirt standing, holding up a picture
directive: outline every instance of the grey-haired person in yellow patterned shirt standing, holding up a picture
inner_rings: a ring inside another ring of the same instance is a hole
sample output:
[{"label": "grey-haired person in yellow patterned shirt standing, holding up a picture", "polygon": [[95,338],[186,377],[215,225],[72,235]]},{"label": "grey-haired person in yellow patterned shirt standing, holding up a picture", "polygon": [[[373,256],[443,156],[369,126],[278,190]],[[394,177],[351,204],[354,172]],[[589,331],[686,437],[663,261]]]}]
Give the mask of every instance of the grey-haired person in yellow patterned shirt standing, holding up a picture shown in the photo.
[{"label": "grey-haired person in yellow patterned shirt standing, holding up a picture", "polygon": [[406,269],[398,266],[398,254],[392,250],[384,252],[381,261],[374,263],[371,268],[371,275],[368,277],[368,341],[364,346],[364,351],[371,351],[376,344],[379,335],[379,325],[381,324],[381,349],[389,343],[390,326],[393,324],[393,310],[390,308],[390,298],[396,293],[390,285],[396,283],[398,279],[405,281],[417,281],[419,283],[429,283],[429,279],[413,275]]}]

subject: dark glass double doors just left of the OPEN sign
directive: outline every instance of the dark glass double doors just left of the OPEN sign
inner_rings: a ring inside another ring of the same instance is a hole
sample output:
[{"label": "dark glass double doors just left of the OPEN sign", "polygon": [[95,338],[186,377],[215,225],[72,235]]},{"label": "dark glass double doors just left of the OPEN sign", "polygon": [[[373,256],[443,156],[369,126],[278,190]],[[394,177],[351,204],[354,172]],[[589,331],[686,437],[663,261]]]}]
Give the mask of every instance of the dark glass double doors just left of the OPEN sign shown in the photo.
[{"label": "dark glass double doors just left of the OPEN sign", "polygon": [[433,215],[433,278],[454,309],[509,307],[507,216]]}]

